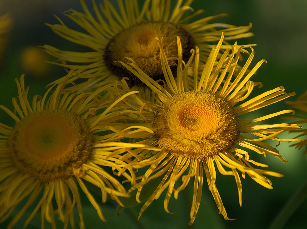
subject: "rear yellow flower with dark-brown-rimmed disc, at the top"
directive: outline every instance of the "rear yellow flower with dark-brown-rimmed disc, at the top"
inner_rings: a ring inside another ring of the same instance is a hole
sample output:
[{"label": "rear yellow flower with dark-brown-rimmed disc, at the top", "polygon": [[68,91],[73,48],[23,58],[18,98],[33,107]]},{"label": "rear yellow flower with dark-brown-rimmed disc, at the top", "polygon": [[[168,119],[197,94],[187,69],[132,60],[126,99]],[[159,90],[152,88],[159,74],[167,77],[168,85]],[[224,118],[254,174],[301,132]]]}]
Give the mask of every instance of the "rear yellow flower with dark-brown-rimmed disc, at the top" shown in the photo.
[{"label": "rear yellow flower with dark-brown-rimmed disc, at the top", "polygon": [[[170,58],[168,60],[170,68],[175,72],[177,62],[173,58],[178,56],[176,36],[180,36],[183,44],[184,61],[188,61],[190,50],[197,45],[201,50],[200,61],[205,63],[212,49],[212,45],[208,43],[218,41],[222,32],[225,32],[226,36],[222,49],[232,47],[226,40],[254,35],[247,32],[251,24],[240,27],[222,23],[208,24],[210,20],[227,16],[227,14],[204,17],[188,23],[204,12],[204,10],[197,10],[186,17],[188,11],[193,12],[191,3],[191,0],[184,2],[178,0],[172,9],[170,0],[146,0],[142,9],[139,10],[136,0],[126,1],[126,6],[120,0],[118,1],[119,12],[117,12],[107,0],[99,5],[100,8],[93,1],[95,12],[93,16],[81,0],[85,13],[68,10],[65,15],[78,24],[83,29],[82,32],[68,28],[59,18],[61,24],[47,25],[59,36],[89,47],[90,51],[63,51],[49,45],[45,45],[44,48],[49,54],[58,58],[58,65],[73,69],[74,76],[89,78],[87,83],[78,85],[79,89],[101,80],[107,83],[114,79],[121,80],[123,77],[128,77],[130,87],[137,86],[136,89],[139,90],[140,85],[144,85],[142,81],[116,61],[127,63],[126,58],[133,58],[152,79],[164,80],[159,46],[155,37],[164,37],[164,52]],[[141,87],[139,94],[150,93],[146,90]]]}]

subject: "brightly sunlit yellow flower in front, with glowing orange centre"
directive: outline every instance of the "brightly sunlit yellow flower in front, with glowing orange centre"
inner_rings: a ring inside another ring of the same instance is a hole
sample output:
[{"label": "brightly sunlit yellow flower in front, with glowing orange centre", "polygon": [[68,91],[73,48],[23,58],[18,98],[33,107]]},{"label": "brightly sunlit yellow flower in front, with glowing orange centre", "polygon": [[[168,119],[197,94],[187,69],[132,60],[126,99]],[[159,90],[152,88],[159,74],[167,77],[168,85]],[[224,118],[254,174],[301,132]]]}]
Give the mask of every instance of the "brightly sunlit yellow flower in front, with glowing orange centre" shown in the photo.
[{"label": "brightly sunlit yellow flower in front, with glowing orange centre", "polygon": [[[222,175],[235,177],[241,206],[242,183],[239,174],[242,175],[242,178],[245,178],[247,174],[257,183],[269,189],[272,189],[271,181],[266,178],[266,175],[283,176],[277,172],[257,168],[267,167],[267,165],[252,160],[249,151],[254,151],[264,157],[268,154],[276,156],[282,162],[286,162],[276,148],[264,141],[269,139],[278,142],[301,141],[300,139],[278,138],[278,135],[283,132],[300,128],[296,124],[254,124],[280,114],[292,113],[293,110],[278,111],[248,120],[242,119],[241,116],[286,99],[295,93],[288,94],[284,92],[283,87],[278,87],[247,100],[253,88],[261,86],[260,82],[250,81],[250,78],[265,60],[258,62],[249,73],[246,73],[254,57],[254,50],[252,50],[240,73],[234,76],[241,51],[241,47],[238,49],[235,44],[232,52],[227,49],[219,57],[219,62],[215,66],[223,43],[223,35],[218,45],[212,48],[200,75],[197,73],[199,66],[195,65],[193,78],[188,76],[188,68],[193,59],[195,63],[198,63],[200,51],[196,47],[196,50],[192,50],[188,62],[184,63],[180,39],[177,37],[178,63],[182,64],[178,65],[176,80],[167,62],[162,45],[164,40],[157,39],[157,41],[161,50],[166,89],[144,73],[133,59],[129,59],[131,62],[129,64],[121,62],[155,92],[153,99],[155,103],[144,101],[137,95],[133,95],[133,99],[129,101],[132,104],[134,100],[135,109],[140,109],[142,114],[147,116],[147,121],[139,125],[147,126],[154,131],[151,137],[137,143],[161,148],[161,151],[157,153],[142,150],[142,148],[135,151],[138,153],[138,159],[129,163],[127,168],[150,167],[144,175],[140,176],[142,180],[128,193],[138,189],[136,199],[140,202],[139,196],[143,186],[150,180],[161,177],[159,186],[142,206],[139,217],[165,189],[167,191],[164,208],[166,212],[169,212],[168,203],[172,193],[174,192],[174,197],[177,199],[178,193],[185,189],[190,179],[193,178],[194,187],[189,222],[191,225],[200,205],[205,179],[220,213],[225,220],[231,220],[227,216],[216,186],[216,168]],[[123,84],[122,88],[129,91],[127,84]],[[139,137],[142,138],[142,136]],[[175,186],[175,182],[179,178],[182,183],[178,187]]]}]

